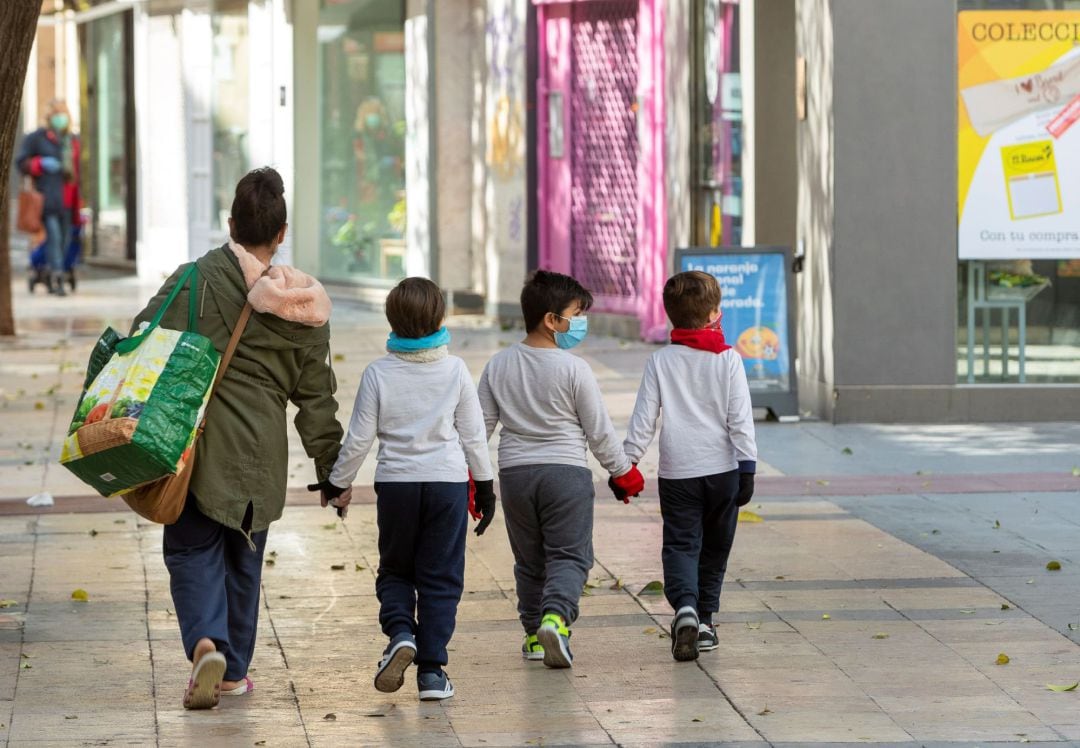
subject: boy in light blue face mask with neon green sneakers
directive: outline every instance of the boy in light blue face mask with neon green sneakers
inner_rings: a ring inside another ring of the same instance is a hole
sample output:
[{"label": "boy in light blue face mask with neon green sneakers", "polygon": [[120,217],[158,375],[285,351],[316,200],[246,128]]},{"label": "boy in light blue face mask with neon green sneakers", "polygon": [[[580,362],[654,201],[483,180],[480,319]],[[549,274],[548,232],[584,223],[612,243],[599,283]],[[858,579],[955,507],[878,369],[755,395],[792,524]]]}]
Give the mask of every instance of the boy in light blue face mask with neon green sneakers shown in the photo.
[{"label": "boy in light blue face mask with neon green sneakers", "polygon": [[[593,567],[593,450],[625,497],[645,487],[616,436],[599,385],[568,353],[588,331],[592,295],[539,270],[522,289],[525,339],[496,354],[477,393],[487,436],[502,424],[499,485],[514,553],[522,656],[570,667],[569,626]],[[624,498],[624,501],[626,499]]]}]

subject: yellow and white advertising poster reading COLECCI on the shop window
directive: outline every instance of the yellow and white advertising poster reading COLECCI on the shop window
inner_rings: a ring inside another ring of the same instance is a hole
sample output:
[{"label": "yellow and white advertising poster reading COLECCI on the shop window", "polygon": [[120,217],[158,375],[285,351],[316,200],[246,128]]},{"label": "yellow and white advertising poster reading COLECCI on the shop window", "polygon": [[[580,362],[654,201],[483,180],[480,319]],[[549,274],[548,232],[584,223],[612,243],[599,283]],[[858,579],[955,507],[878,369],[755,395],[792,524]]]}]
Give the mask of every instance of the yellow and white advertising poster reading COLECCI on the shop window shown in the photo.
[{"label": "yellow and white advertising poster reading COLECCI on the shop window", "polygon": [[957,29],[960,259],[1080,258],[1080,11]]}]

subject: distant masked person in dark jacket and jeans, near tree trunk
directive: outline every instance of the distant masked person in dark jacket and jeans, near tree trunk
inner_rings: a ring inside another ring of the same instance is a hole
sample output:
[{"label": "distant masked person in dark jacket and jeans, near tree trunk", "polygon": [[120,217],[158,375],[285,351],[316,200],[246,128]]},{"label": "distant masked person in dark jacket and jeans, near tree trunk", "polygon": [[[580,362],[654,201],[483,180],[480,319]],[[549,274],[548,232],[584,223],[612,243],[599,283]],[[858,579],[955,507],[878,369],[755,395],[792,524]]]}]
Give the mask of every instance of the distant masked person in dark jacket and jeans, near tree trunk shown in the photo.
[{"label": "distant masked person in dark jacket and jeans, near tree trunk", "polygon": [[64,257],[79,218],[79,138],[71,133],[71,112],[62,99],[49,103],[45,125],[23,139],[15,162],[23,174],[33,177],[35,188],[44,198],[41,222],[48,270],[43,280],[50,294],[66,296]]}]

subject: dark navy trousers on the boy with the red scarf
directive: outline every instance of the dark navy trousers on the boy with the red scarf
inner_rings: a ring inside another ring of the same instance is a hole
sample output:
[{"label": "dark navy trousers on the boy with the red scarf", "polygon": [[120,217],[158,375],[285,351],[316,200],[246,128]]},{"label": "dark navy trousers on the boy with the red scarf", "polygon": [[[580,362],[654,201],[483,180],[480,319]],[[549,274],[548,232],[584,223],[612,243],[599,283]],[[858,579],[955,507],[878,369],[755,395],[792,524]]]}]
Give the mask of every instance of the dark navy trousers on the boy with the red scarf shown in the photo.
[{"label": "dark navy trousers on the boy with the red scarf", "polygon": [[693,606],[710,620],[720,609],[720,587],[739,521],[739,471],[700,478],[660,478],[664,520],[664,595],[672,608]]}]

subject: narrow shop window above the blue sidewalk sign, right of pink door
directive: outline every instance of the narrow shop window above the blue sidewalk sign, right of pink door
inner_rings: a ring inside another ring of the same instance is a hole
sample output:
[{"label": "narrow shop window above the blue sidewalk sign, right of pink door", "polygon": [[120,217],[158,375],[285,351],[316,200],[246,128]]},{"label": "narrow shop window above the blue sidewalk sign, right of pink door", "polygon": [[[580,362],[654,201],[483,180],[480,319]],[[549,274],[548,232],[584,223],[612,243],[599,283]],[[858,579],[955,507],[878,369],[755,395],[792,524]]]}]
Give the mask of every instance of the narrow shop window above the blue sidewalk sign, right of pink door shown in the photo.
[{"label": "narrow shop window above the blue sidewalk sign, right of pink door", "polygon": [[739,0],[693,1],[693,241],[741,245],[742,77]]}]

